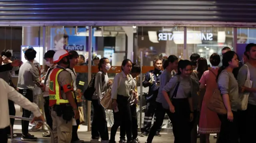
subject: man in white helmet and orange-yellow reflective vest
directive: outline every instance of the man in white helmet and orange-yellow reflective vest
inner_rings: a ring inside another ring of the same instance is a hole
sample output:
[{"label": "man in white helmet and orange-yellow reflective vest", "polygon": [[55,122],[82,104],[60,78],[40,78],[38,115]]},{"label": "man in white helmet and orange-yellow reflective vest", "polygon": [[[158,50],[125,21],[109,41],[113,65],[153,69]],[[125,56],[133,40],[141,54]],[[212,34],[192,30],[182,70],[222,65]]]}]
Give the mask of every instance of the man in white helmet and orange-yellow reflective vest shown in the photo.
[{"label": "man in white helmet and orange-yellow reflective vest", "polygon": [[[49,75],[49,107],[53,133],[51,138],[54,137],[56,143],[70,143],[72,119],[79,118],[79,110],[74,100],[72,77],[66,71],[70,64],[68,51],[56,51],[53,61],[57,66]],[[45,85],[42,90],[47,90]]]}]

